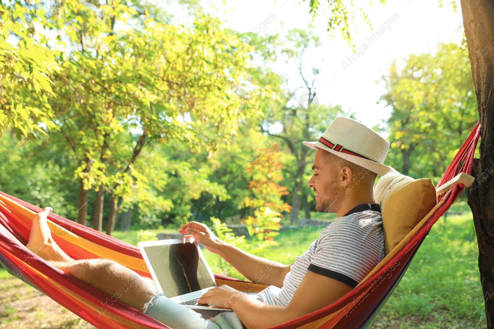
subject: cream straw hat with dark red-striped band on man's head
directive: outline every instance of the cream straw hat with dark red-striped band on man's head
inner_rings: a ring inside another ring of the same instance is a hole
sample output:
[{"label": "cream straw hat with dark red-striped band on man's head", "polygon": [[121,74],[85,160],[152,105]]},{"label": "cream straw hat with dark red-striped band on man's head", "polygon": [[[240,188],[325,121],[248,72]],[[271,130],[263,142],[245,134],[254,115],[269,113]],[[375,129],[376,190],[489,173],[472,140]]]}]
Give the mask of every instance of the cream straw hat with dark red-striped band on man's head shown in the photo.
[{"label": "cream straw hat with dark red-striped band on man's head", "polygon": [[383,164],[389,142],[353,119],[338,116],[317,142],[302,144],[314,149],[322,148],[379,176],[391,169]]}]

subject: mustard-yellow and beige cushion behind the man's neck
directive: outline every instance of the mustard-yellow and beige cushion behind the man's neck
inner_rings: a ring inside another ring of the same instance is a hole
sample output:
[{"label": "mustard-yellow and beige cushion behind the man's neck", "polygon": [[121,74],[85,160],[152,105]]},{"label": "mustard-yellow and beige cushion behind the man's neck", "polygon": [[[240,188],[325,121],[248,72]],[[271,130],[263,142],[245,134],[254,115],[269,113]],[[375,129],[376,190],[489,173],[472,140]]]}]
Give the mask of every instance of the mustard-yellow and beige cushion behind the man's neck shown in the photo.
[{"label": "mustard-yellow and beige cushion behind the man's neck", "polygon": [[437,204],[430,178],[414,180],[394,169],[379,179],[374,199],[381,206],[386,255]]}]

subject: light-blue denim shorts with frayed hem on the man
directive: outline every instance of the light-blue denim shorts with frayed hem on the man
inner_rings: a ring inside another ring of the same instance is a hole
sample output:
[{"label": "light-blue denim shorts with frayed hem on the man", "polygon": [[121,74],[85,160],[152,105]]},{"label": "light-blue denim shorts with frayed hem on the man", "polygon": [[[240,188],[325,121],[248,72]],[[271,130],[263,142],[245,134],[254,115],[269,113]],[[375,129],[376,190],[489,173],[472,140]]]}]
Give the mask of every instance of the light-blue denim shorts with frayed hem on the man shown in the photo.
[{"label": "light-blue denim shorts with frayed hem on the man", "polygon": [[[198,310],[201,311],[203,310]],[[209,310],[205,311],[211,314]],[[166,298],[163,293],[151,298],[144,305],[143,312],[173,329],[245,329],[242,321],[233,311],[224,311],[205,319],[193,309]],[[206,312],[202,313],[207,314]],[[214,311],[214,314],[216,313],[218,310]]]}]

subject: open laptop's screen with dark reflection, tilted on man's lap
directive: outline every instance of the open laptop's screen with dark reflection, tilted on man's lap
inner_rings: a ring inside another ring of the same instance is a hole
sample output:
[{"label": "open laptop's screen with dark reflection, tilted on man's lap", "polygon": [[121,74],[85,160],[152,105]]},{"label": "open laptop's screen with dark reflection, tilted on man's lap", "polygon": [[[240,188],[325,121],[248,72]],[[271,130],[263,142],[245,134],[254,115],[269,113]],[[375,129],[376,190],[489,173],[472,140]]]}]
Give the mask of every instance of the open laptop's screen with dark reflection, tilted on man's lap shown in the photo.
[{"label": "open laptop's screen with dark reflection, tilted on man's lap", "polygon": [[166,297],[171,298],[215,286],[194,243],[143,248]]}]

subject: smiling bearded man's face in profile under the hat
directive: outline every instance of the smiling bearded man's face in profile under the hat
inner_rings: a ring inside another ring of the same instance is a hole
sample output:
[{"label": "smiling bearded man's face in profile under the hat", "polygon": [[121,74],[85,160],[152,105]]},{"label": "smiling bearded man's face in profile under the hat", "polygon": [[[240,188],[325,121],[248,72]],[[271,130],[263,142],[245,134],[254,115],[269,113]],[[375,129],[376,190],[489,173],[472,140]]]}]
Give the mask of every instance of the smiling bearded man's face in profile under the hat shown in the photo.
[{"label": "smiling bearded man's face in profile under the hat", "polygon": [[342,201],[340,197],[342,186],[338,186],[336,180],[336,174],[340,168],[327,163],[323,155],[324,152],[326,151],[321,148],[317,149],[312,164],[314,174],[307,182],[307,186],[316,193],[316,210],[318,212],[336,213]]}]

